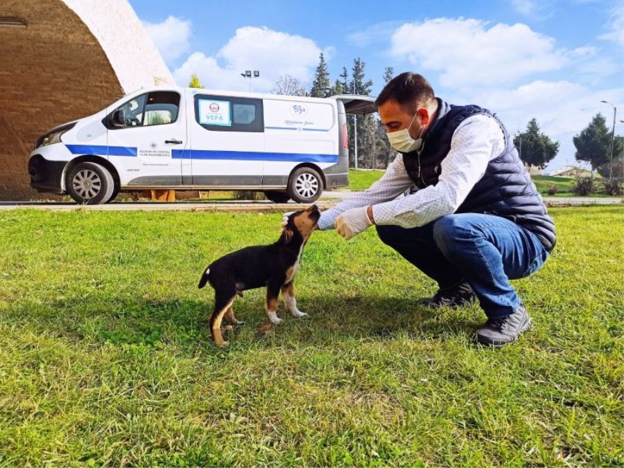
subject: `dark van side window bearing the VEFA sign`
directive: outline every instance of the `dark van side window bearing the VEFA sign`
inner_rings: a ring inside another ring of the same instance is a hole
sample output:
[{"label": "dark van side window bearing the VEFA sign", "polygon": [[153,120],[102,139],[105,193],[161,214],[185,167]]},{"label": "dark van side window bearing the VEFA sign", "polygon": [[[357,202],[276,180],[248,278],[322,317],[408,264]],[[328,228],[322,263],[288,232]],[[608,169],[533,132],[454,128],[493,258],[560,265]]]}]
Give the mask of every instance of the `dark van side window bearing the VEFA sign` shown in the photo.
[{"label": "dark van side window bearing the VEFA sign", "polygon": [[264,132],[261,99],[196,94],[195,120],[214,132]]}]

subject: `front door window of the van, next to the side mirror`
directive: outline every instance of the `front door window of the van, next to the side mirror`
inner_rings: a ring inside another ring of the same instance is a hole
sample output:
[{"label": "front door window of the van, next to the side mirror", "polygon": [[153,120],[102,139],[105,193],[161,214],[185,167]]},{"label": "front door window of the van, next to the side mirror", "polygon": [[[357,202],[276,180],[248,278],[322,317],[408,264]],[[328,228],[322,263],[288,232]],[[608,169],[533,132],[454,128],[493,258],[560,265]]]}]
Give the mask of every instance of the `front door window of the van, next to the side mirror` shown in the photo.
[{"label": "front door window of the van, next to the side mirror", "polygon": [[[147,127],[148,125],[165,125],[177,120],[180,109],[180,94],[172,91],[155,91],[141,94],[117,107],[105,119],[108,129],[129,127]],[[125,125],[112,125],[112,115],[123,110]]]}]

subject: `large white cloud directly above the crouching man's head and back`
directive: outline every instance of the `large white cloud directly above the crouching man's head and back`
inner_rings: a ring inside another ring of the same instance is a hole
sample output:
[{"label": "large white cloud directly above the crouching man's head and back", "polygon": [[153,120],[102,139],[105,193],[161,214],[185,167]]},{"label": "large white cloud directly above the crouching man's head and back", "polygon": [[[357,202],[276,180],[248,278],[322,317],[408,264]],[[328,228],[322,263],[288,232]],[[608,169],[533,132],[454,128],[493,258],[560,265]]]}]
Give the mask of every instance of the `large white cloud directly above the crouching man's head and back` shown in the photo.
[{"label": "large white cloud directly above the crouching man's head and back", "polygon": [[521,78],[561,69],[569,58],[551,37],[526,24],[478,19],[427,19],[404,24],[392,35],[391,55],[419,69],[438,71],[444,87],[514,84]]}]

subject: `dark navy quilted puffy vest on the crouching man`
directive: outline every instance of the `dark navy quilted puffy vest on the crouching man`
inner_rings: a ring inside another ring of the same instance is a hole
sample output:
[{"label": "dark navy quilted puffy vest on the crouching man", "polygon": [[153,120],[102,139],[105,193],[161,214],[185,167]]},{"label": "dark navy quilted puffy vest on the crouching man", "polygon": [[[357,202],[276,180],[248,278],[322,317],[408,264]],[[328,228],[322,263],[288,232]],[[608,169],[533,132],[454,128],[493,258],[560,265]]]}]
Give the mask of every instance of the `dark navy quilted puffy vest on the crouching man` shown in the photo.
[{"label": "dark navy quilted puffy vest on the crouching man", "polygon": [[487,109],[476,105],[448,105],[438,99],[437,117],[424,136],[422,151],[403,156],[410,178],[418,188],[435,185],[442,172],[440,163],[451,149],[453,132],[463,120],[476,114],[496,120],[505,136],[505,150],[489,161],[485,174],[455,213],[486,213],[511,219],[535,234],[547,251],[552,251],[557,240],[555,223],[520,161],[505,126]]}]

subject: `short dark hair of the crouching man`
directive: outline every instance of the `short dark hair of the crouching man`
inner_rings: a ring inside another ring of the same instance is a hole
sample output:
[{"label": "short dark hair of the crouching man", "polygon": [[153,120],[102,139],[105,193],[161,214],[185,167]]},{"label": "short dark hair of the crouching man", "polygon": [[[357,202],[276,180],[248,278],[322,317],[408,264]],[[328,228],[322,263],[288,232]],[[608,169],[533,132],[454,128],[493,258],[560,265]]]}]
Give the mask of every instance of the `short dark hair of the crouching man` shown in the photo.
[{"label": "short dark hair of the crouching man", "polygon": [[377,107],[394,100],[401,107],[415,111],[419,105],[426,105],[435,98],[431,84],[423,75],[406,71],[395,76],[383,87],[375,100]]}]

